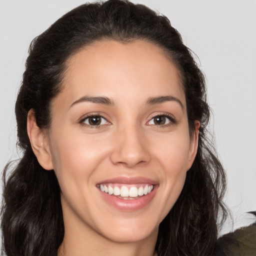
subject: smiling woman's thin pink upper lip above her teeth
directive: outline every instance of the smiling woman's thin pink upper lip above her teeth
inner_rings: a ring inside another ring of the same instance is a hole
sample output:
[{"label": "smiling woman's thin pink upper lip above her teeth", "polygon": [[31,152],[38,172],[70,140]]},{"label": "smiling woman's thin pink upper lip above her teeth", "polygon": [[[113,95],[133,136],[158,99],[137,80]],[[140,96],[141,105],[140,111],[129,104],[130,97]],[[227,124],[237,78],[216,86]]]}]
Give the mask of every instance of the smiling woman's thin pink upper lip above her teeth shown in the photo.
[{"label": "smiling woman's thin pink upper lip above her teeth", "polygon": [[146,178],[146,177],[127,177],[127,176],[119,176],[119,177],[113,177],[109,179],[104,179],[98,182],[97,184],[102,183],[119,183],[119,184],[137,184],[137,183],[146,183],[146,184],[157,184],[156,180]]}]

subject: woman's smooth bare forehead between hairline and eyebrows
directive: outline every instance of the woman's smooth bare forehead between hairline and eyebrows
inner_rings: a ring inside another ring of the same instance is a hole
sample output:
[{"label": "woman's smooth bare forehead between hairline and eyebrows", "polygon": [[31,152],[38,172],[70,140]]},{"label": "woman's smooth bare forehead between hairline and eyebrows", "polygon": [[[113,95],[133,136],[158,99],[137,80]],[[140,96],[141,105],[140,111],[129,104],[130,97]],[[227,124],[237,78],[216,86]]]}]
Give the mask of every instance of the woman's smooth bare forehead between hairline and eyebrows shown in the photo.
[{"label": "woman's smooth bare forehead between hairline and eyebrows", "polygon": [[162,48],[143,40],[103,40],[81,48],[67,60],[62,85],[68,103],[83,94],[117,101],[174,94],[185,105],[176,66]]}]

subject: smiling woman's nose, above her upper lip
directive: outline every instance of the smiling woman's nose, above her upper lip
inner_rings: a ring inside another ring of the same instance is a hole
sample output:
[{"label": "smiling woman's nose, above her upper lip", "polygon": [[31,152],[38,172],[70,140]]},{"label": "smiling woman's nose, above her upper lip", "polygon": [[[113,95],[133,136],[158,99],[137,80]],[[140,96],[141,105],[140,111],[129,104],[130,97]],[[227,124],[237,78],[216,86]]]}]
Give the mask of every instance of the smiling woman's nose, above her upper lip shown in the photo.
[{"label": "smiling woman's nose, above her upper lip", "polygon": [[113,164],[132,168],[150,161],[148,143],[143,132],[137,128],[121,129],[115,136],[110,159]]}]

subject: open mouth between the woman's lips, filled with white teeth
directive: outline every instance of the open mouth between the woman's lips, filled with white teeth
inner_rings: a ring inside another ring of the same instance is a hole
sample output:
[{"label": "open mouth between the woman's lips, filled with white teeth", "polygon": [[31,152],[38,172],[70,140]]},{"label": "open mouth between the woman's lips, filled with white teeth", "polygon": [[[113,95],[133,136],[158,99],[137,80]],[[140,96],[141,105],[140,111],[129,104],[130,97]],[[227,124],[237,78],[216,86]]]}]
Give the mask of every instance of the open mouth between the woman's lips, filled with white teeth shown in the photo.
[{"label": "open mouth between the woman's lips, filled with white teeth", "polygon": [[120,199],[138,199],[147,195],[154,189],[152,184],[107,184],[100,183],[97,187],[109,195],[116,196]]}]

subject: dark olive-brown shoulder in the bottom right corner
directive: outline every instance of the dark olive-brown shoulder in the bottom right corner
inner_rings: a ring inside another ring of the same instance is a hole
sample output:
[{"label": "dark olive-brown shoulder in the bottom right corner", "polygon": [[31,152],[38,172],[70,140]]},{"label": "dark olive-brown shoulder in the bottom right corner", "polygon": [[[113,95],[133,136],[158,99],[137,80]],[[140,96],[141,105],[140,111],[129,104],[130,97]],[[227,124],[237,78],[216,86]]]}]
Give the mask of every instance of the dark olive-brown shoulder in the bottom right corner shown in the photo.
[{"label": "dark olive-brown shoulder in the bottom right corner", "polygon": [[219,237],[214,252],[214,256],[256,255],[256,222]]}]

